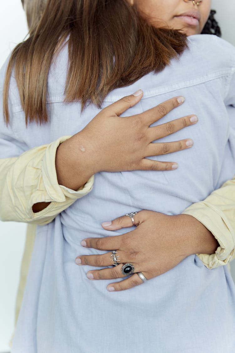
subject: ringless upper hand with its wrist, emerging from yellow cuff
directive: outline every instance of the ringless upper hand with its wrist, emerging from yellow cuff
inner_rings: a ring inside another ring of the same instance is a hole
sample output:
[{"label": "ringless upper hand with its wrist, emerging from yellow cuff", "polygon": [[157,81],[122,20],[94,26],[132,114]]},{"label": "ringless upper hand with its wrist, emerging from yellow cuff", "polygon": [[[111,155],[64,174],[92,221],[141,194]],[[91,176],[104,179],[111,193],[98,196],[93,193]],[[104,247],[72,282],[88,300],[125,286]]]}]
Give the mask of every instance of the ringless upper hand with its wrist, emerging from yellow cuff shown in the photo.
[{"label": "ringless upper hand with its wrist, emerging from yellow cuff", "polygon": [[173,170],[178,167],[175,162],[154,161],[146,157],[191,147],[191,139],[167,143],[153,141],[195,124],[197,117],[188,115],[149,127],[180,106],[184,102],[183,97],[171,98],[140,114],[120,116],[137,104],[142,96],[143,92],[139,90],[102,109],[83,130],[58,146],[55,165],[60,185],[78,190],[98,172]]}]

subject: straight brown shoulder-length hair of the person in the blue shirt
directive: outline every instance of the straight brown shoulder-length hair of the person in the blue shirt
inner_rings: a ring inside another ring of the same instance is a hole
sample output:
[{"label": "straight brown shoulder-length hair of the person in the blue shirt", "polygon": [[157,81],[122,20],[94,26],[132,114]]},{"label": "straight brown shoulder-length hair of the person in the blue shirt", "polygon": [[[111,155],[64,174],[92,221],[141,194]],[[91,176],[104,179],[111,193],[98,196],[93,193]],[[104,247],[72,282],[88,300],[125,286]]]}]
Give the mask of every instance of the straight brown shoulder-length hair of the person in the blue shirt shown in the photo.
[{"label": "straight brown shoulder-length hair of the person in the blue shirt", "polygon": [[[42,1],[42,0],[41,0]],[[47,76],[52,58],[68,38],[65,101],[101,107],[113,89],[159,72],[187,46],[186,35],[155,28],[128,0],[43,0],[30,36],[11,55],[4,85],[4,116],[14,68],[25,122],[47,122]],[[38,1],[40,2],[40,1]],[[26,9],[27,10],[27,9]]]}]

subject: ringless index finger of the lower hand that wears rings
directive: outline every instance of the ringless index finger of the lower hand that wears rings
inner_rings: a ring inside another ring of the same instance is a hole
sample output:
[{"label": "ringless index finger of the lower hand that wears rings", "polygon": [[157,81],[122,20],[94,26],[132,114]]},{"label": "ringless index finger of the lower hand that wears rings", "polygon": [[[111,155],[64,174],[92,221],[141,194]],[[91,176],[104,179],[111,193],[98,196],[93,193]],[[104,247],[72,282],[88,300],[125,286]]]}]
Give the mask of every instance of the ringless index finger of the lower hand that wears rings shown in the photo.
[{"label": "ringless index finger of the lower hand that wears rings", "polygon": [[[126,234],[125,234],[126,235]],[[81,245],[84,247],[92,247],[98,250],[110,250],[120,249],[122,245],[123,235],[116,235],[113,237],[104,238],[86,238],[81,241]]]}]

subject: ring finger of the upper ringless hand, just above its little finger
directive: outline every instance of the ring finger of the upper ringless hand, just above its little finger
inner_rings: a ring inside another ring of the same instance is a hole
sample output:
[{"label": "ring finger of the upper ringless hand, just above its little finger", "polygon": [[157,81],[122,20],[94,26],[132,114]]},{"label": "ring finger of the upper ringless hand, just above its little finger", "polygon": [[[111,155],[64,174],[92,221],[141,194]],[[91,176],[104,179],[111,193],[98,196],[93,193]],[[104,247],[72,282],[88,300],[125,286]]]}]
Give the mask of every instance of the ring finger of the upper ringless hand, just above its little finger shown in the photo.
[{"label": "ring finger of the upper ringless hand, just above its little finger", "polygon": [[146,149],[146,154],[148,154],[148,156],[161,156],[164,154],[185,150],[192,146],[193,146],[192,139],[185,139],[185,140],[165,142],[165,143],[151,142]]}]

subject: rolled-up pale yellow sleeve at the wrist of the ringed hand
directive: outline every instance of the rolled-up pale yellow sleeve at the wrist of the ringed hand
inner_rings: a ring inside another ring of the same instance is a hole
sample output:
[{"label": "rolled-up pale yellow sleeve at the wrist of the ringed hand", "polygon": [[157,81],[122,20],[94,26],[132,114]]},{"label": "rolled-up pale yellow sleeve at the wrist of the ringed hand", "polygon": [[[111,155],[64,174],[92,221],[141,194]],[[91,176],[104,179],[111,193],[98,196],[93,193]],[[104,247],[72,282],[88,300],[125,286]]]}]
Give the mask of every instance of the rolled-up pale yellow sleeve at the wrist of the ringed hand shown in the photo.
[{"label": "rolled-up pale yellow sleeve at the wrist of the ringed hand", "polygon": [[226,265],[235,258],[235,176],[183,213],[195,217],[219,243],[214,254],[197,254],[207,268]]}]

